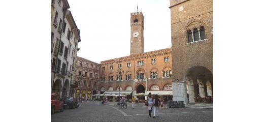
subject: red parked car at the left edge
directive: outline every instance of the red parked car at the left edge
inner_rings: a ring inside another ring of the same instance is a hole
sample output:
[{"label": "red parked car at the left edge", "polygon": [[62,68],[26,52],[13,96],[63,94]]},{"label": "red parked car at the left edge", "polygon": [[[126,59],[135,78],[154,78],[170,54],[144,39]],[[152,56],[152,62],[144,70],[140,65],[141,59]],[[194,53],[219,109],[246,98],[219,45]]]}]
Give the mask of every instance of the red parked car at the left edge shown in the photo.
[{"label": "red parked car at the left edge", "polygon": [[63,112],[63,101],[57,94],[51,94],[51,114],[54,114],[54,112],[58,110]]}]

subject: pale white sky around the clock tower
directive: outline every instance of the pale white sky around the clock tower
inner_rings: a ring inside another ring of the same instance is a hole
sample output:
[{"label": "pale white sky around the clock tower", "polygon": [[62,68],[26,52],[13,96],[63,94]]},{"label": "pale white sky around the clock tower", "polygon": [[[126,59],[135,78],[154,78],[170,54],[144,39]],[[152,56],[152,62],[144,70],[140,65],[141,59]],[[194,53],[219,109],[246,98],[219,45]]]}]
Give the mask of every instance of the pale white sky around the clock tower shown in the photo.
[{"label": "pale white sky around the clock tower", "polygon": [[144,52],[171,47],[169,0],[68,0],[80,29],[77,55],[93,62],[130,55],[130,13],[145,19]]}]

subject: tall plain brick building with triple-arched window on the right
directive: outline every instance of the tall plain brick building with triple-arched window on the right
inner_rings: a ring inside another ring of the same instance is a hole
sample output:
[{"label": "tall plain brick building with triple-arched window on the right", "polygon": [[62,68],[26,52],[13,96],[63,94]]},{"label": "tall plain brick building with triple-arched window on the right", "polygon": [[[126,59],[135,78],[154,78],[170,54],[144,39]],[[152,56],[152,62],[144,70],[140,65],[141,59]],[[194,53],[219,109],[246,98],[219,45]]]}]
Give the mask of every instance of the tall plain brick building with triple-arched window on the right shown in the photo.
[{"label": "tall plain brick building with triple-arched window on the right", "polygon": [[213,1],[170,0],[173,100],[213,96]]}]

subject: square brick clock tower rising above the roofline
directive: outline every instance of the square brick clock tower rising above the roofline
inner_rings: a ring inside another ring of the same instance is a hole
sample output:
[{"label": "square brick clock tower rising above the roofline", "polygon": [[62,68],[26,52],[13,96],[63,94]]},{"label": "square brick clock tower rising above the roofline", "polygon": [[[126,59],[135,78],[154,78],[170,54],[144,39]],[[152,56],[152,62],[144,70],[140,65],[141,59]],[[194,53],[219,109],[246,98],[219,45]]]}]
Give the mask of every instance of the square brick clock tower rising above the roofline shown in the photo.
[{"label": "square brick clock tower rising above the roofline", "polygon": [[144,16],[142,12],[131,13],[130,55],[144,52]]}]

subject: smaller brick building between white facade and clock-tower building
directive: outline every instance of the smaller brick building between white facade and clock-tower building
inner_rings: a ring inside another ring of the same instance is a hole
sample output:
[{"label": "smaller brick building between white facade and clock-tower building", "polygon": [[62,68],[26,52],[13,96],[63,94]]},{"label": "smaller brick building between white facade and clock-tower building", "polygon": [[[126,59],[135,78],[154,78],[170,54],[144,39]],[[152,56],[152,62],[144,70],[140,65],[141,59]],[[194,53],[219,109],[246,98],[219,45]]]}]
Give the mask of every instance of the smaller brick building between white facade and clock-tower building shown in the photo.
[{"label": "smaller brick building between white facade and clock-tower building", "polygon": [[97,94],[99,81],[100,64],[94,63],[88,59],[77,57],[76,73],[74,81],[75,98],[91,98],[91,95]]}]

